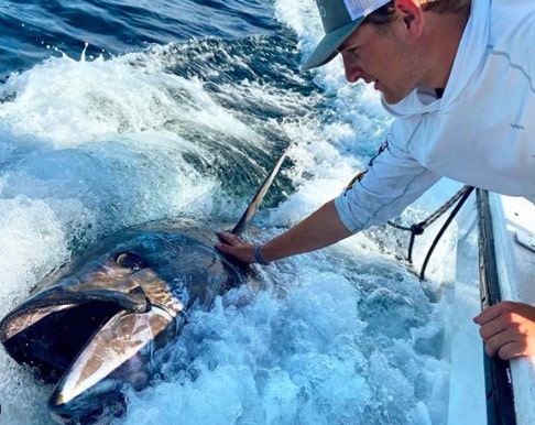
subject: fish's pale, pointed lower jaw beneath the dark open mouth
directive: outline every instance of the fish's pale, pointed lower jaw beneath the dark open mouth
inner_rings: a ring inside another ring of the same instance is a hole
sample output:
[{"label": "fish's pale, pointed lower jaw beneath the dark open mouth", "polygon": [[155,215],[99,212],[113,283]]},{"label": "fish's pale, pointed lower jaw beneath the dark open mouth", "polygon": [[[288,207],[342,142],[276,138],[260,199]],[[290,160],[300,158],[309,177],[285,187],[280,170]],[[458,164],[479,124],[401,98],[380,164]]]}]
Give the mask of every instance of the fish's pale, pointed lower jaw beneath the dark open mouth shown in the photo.
[{"label": "fish's pale, pointed lower jaw beneath the dark open mouth", "polygon": [[[51,413],[63,418],[87,415],[101,410],[110,394],[118,394],[125,379],[134,388],[146,385],[151,372],[145,370],[140,357],[152,351],[151,346],[159,337],[174,335],[173,325],[181,322],[160,307],[145,313],[116,314],[89,340],[56,384],[48,401]],[[121,368],[128,373],[121,373]],[[121,379],[114,378],[118,373]]]}]

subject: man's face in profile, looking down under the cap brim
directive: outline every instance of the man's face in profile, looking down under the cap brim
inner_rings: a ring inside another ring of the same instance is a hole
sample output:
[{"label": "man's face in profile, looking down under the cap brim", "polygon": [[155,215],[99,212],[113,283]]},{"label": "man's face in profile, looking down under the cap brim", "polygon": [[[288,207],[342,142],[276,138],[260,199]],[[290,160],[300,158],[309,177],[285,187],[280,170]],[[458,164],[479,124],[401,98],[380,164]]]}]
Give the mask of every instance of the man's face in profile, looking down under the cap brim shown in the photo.
[{"label": "man's face in profile, looking down under the cap brim", "polygon": [[346,78],[373,83],[387,103],[396,103],[423,83],[421,58],[405,36],[403,21],[360,25],[339,52]]}]

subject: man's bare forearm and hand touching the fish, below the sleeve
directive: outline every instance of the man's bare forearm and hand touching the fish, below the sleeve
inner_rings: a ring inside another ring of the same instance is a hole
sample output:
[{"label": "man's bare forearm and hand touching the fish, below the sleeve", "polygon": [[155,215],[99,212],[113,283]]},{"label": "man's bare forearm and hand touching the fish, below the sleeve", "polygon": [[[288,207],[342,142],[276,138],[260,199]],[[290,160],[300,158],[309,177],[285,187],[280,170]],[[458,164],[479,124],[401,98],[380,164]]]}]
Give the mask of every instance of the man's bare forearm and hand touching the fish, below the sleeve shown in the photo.
[{"label": "man's bare forearm and hand touching the fish, below the sleeve", "polygon": [[[334,200],[328,201],[298,225],[262,244],[260,254],[266,262],[314,251],[336,243],[351,232],[341,222]],[[254,247],[229,232],[220,232],[216,248],[238,260],[253,263]]]}]

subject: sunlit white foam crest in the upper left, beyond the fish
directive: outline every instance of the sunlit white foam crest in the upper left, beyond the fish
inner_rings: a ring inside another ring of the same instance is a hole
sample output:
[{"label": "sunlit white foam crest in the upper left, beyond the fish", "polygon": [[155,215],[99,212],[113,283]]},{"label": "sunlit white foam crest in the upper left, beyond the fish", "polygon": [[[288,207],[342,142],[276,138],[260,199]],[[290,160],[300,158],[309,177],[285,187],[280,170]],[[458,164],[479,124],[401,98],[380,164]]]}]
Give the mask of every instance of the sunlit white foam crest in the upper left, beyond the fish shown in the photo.
[{"label": "sunlit white foam crest in the upper left, beyond the fish", "polygon": [[112,61],[53,56],[8,79],[1,96],[15,98],[0,103],[0,118],[14,134],[41,138],[56,149],[181,123],[251,137],[198,79],[167,73],[157,55],[161,50]]}]

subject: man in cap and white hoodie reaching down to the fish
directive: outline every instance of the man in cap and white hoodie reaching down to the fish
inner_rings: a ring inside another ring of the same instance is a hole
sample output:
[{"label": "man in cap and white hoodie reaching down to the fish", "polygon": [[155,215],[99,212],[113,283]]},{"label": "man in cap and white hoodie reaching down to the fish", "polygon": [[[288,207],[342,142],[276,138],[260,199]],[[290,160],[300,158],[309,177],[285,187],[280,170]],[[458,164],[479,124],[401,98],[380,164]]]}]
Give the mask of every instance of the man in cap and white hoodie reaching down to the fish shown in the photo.
[{"label": "man in cap and white hoodie reaching down to the fish", "polygon": [[[395,117],[352,187],[261,247],[217,248],[265,263],[335,243],[397,216],[440,177],[535,201],[533,0],[317,0],[326,35],[303,65],[337,54]],[[490,356],[535,356],[535,307],[500,303],[474,318]]]}]

